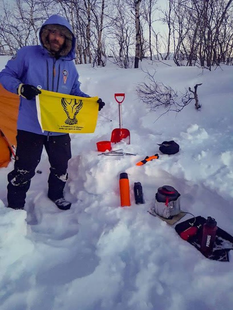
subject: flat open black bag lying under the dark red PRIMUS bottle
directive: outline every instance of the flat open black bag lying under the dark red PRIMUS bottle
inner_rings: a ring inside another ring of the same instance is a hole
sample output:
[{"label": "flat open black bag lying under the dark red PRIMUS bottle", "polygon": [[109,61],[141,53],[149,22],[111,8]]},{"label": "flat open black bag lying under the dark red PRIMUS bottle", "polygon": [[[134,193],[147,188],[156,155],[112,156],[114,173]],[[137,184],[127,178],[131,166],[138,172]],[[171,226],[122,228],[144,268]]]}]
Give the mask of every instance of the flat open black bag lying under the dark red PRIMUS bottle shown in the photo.
[{"label": "flat open black bag lying under the dark red PRIMUS bottle", "polygon": [[[184,222],[176,224],[175,230],[180,237],[182,237],[182,233],[187,232],[188,229],[196,228],[195,233],[190,234],[190,237],[187,238],[186,241],[195,246],[195,248],[201,252],[202,230],[205,223],[206,219],[199,215],[195,218],[187,219]],[[201,253],[208,259],[229,262],[228,252],[230,250],[233,250],[233,237],[218,227],[212,252],[208,254]]]}]

